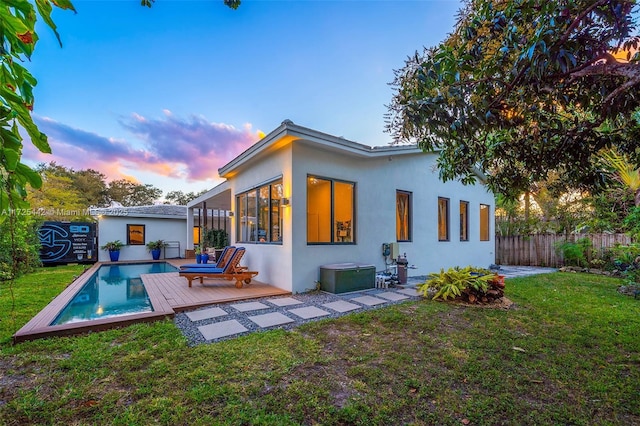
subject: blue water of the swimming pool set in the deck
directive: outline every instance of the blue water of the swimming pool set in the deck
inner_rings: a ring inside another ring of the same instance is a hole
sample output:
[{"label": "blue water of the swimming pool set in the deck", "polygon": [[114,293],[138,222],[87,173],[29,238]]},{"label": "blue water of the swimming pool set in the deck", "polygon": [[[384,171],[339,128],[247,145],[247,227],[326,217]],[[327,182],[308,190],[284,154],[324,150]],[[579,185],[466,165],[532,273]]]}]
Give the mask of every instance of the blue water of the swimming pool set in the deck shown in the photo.
[{"label": "blue water of the swimming pool set in the deck", "polygon": [[51,325],[151,312],[140,275],[177,270],[166,262],[102,265]]}]

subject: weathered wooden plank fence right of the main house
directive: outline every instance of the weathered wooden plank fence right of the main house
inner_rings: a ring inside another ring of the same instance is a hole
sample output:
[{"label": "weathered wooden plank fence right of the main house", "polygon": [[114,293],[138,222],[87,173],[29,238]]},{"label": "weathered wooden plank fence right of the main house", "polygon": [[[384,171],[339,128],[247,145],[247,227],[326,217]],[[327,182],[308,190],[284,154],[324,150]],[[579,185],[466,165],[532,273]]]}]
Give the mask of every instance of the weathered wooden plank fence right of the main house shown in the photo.
[{"label": "weathered wooden plank fence right of the main house", "polygon": [[580,238],[589,238],[593,244],[594,256],[599,257],[608,247],[615,244],[630,244],[631,238],[626,234],[578,234],[578,235],[496,235],[496,263],[498,265],[523,266],[563,266],[562,254],[556,247],[565,241],[575,242]]}]

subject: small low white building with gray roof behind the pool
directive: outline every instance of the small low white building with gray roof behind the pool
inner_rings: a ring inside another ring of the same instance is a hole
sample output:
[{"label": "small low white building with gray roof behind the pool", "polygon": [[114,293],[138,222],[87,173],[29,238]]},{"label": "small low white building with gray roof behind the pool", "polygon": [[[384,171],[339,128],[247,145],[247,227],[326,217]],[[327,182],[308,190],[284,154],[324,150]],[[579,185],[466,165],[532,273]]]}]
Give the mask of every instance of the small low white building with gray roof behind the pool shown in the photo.
[{"label": "small low white building with gray roof behind the pool", "polygon": [[[136,207],[106,207],[91,209],[98,223],[98,247],[114,240],[126,246],[120,260],[151,259],[146,244],[164,240],[169,246],[163,250],[165,258],[184,257],[187,247],[186,206],[151,205]],[[99,262],[108,262],[109,253],[99,250]]]}]

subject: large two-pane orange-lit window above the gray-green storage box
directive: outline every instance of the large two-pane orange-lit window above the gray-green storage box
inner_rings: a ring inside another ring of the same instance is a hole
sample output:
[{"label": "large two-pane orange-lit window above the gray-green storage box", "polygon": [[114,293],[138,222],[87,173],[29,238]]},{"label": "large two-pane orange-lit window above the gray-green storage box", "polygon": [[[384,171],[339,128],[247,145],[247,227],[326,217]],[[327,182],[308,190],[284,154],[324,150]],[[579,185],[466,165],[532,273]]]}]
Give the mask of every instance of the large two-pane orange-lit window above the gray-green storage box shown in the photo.
[{"label": "large two-pane orange-lit window above the gray-green storage box", "polygon": [[355,183],[307,177],[307,243],[355,241]]}]

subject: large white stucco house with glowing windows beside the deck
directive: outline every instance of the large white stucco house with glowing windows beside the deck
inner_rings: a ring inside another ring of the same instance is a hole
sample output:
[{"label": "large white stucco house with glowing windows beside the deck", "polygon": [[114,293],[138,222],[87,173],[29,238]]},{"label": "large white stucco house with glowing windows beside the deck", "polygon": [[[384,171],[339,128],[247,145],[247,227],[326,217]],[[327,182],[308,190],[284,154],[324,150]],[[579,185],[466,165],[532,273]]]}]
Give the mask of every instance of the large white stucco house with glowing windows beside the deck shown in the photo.
[{"label": "large white stucco house with glowing windows beside the deck", "polygon": [[[257,279],[305,292],[320,267],[355,262],[385,270],[382,245],[426,275],[495,260],[494,196],[482,184],[438,178],[435,153],[370,147],[285,120],[218,170],[225,181],[188,203],[231,211],[230,240]],[[193,232],[186,245],[193,247]]]}]

